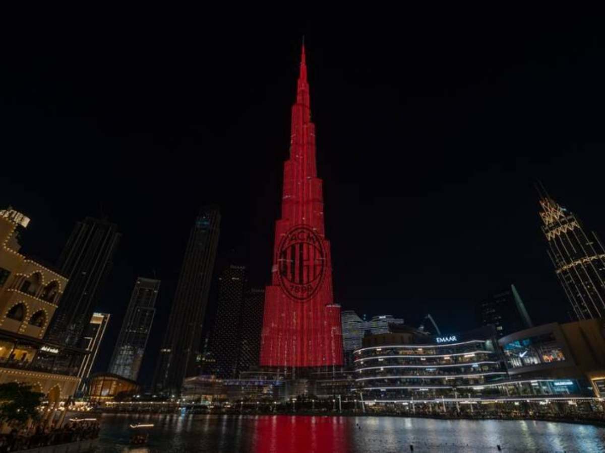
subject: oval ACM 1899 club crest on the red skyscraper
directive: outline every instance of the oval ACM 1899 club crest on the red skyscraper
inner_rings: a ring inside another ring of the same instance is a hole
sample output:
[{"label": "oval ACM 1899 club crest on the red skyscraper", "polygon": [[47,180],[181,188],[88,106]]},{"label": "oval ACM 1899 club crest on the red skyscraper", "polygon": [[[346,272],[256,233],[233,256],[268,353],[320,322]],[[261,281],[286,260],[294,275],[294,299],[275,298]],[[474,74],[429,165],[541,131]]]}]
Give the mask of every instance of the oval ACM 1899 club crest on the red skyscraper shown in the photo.
[{"label": "oval ACM 1899 club crest on the red skyscraper", "polygon": [[321,286],[325,272],[324,244],[309,226],[293,226],[281,240],[278,275],[281,289],[295,300],[307,300]]}]

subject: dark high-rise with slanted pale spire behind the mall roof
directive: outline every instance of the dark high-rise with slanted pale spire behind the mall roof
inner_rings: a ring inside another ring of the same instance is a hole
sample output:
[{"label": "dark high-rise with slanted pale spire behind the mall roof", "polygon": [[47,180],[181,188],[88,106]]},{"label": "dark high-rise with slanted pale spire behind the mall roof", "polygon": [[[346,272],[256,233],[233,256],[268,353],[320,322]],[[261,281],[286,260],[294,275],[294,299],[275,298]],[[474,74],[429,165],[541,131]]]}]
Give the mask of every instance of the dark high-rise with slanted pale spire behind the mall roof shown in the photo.
[{"label": "dark high-rise with slanted pale spire behind the mall roof", "polygon": [[523,300],[514,284],[511,288],[489,295],[479,303],[479,323],[492,324],[499,337],[533,327]]}]

